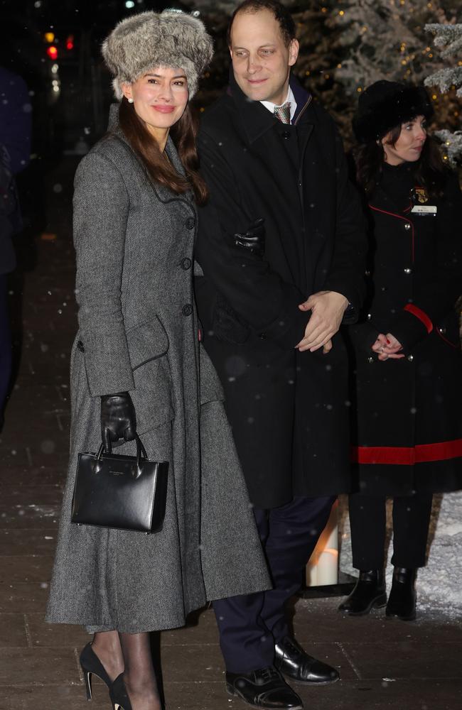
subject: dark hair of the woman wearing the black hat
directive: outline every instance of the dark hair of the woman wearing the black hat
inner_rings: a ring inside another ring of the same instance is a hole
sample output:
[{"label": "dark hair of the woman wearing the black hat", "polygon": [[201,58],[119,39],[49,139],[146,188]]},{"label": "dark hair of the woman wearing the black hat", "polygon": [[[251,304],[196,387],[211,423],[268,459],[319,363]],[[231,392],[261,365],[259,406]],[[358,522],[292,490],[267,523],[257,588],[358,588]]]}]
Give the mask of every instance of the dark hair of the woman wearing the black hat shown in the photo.
[{"label": "dark hair of the woman wearing the black hat", "polygon": [[[401,126],[396,126],[390,131],[388,143],[393,147],[397,143],[401,128]],[[356,165],[356,181],[369,196],[380,182],[385,163],[384,147],[381,142],[377,143],[376,141],[360,143],[353,148],[353,157]],[[445,172],[446,167],[439,148],[434,138],[427,136],[420,158],[415,163],[414,176],[430,197],[438,197],[446,184]]]}]

